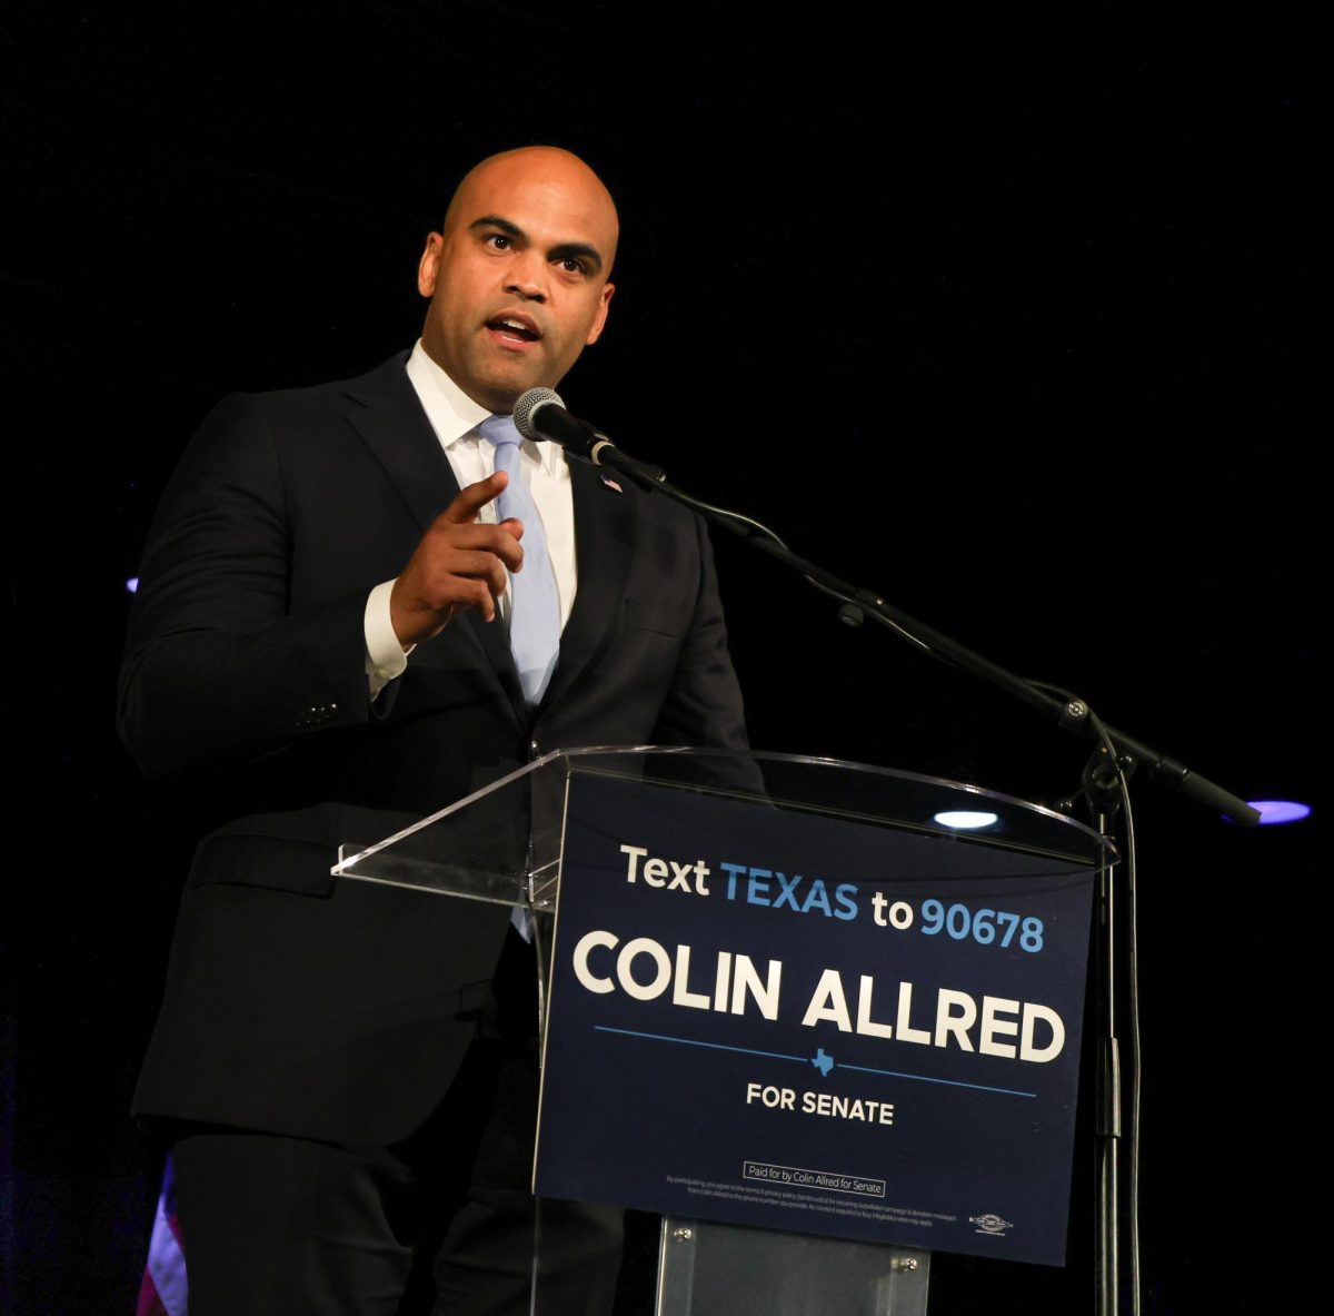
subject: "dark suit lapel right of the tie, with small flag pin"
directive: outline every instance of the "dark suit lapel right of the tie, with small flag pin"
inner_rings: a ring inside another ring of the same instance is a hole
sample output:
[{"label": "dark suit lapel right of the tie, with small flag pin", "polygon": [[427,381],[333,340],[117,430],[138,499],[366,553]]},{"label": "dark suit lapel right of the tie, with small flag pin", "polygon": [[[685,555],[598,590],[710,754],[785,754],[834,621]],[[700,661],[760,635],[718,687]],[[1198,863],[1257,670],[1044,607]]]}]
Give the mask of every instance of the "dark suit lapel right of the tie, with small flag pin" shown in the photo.
[{"label": "dark suit lapel right of the tie, with small flag pin", "polygon": [[630,573],[638,491],[619,492],[587,462],[570,462],[575,510],[575,606],[560,635],[560,658],[543,707],[559,699],[611,642]]}]

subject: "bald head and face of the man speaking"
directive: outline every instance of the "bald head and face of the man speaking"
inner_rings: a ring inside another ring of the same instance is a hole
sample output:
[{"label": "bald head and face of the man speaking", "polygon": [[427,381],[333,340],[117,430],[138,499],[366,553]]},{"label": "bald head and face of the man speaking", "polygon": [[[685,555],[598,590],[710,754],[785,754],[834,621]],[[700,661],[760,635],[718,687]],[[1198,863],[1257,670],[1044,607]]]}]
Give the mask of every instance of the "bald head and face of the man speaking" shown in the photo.
[{"label": "bald head and face of the man speaking", "polygon": [[611,198],[575,156],[539,147],[478,166],[422,255],[427,352],[491,411],[554,388],[602,334],[616,238]]}]

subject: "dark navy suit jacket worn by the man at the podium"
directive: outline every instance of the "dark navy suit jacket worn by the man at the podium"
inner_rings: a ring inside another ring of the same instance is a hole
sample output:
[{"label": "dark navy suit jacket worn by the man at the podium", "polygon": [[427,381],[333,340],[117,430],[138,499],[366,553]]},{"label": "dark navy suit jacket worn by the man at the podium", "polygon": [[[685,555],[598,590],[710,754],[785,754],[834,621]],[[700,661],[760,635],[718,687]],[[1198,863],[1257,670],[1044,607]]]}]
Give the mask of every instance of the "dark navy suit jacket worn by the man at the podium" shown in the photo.
[{"label": "dark navy suit jacket worn by the man at the podium", "polygon": [[[443,1096],[504,906],[334,878],[371,842],[552,749],[744,747],[698,517],[571,462],[579,585],[528,710],[475,613],[372,703],[363,613],[458,482],[395,358],[223,399],[149,533],[120,677],[141,767],[209,819],[135,1110],[390,1142]],[[498,846],[522,854],[527,819]]]}]

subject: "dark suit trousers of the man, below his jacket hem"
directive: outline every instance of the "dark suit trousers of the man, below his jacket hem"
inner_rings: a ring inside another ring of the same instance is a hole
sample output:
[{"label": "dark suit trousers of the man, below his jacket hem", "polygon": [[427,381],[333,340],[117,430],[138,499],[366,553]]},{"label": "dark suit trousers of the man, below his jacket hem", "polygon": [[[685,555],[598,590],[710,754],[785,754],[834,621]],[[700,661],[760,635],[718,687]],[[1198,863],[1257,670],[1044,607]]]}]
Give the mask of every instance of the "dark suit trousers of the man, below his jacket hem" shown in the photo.
[{"label": "dark suit trousers of the man, below his jacket hem", "polygon": [[622,1213],[531,1195],[538,1040],[522,1018],[492,994],[450,1092],[395,1146],[180,1129],[191,1316],[610,1316]]}]

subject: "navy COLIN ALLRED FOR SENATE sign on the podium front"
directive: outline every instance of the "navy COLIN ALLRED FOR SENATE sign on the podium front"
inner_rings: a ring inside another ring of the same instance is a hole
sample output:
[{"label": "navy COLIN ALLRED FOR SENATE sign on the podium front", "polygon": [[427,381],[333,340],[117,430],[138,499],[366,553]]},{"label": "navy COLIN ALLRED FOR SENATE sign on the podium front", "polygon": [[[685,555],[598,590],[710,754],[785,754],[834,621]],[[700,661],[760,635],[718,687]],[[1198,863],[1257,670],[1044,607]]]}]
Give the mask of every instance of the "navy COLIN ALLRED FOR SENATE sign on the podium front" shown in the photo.
[{"label": "navy COLIN ALLRED FOR SENATE sign on the podium front", "polygon": [[576,773],[542,1196],[1061,1265],[1093,869]]}]

